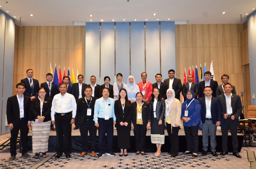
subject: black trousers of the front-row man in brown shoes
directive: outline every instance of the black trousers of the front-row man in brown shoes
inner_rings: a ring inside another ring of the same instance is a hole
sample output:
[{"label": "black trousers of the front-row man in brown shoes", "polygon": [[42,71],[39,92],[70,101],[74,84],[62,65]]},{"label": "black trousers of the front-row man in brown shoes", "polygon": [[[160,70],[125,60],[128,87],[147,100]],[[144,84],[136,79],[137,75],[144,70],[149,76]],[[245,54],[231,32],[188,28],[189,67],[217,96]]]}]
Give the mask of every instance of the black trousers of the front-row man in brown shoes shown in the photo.
[{"label": "black trousers of the front-row man in brown shoes", "polygon": [[90,142],[91,142],[91,152],[96,151],[96,135],[97,135],[97,127],[94,125],[95,122],[94,120],[89,120],[84,119],[82,124],[80,124],[80,134],[81,134],[81,147],[83,152],[88,152],[87,149],[87,139],[88,139],[88,130],[90,134]]}]

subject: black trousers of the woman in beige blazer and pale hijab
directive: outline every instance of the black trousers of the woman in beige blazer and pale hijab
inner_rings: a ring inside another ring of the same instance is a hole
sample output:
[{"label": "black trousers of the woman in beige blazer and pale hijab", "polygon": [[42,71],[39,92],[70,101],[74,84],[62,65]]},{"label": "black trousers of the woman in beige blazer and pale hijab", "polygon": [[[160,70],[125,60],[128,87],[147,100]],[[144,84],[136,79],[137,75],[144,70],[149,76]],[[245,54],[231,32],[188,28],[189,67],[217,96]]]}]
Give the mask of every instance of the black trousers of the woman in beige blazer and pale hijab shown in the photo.
[{"label": "black trousers of the woman in beige blazer and pale hijab", "polygon": [[170,153],[177,156],[178,155],[178,131],[180,127],[172,127],[171,124],[166,123],[167,133],[170,140]]}]

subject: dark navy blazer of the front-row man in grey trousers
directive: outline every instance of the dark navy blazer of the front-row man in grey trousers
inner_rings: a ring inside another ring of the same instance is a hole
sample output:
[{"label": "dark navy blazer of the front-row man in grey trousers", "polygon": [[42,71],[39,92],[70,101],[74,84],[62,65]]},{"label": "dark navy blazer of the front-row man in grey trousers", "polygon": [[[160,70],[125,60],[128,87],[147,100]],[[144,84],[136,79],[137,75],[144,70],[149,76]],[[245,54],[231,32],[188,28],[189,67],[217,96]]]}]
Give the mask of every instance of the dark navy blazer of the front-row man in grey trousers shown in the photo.
[{"label": "dark navy blazer of the front-row man in grey trousers", "polygon": [[[201,97],[198,99],[198,101],[201,104],[202,112],[201,112],[201,120],[202,123],[205,123],[206,118],[206,101],[205,97]],[[217,122],[221,122],[221,107],[220,107],[220,101],[219,98],[212,97],[211,101],[211,116],[212,116],[212,123],[216,124]]]}]

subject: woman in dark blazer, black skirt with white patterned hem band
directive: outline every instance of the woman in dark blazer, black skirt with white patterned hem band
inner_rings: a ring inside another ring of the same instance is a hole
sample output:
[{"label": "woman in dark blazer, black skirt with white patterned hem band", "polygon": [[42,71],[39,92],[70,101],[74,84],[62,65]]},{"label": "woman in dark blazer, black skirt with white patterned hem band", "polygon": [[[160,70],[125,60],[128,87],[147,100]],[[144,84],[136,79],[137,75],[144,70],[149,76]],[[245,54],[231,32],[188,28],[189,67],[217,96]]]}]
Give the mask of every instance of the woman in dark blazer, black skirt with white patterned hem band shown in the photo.
[{"label": "woman in dark blazer, black skirt with white patterned hem band", "polygon": [[151,112],[151,143],[156,144],[155,156],[160,156],[165,139],[163,123],[165,119],[165,100],[158,88],[153,89],[149,105]]}]

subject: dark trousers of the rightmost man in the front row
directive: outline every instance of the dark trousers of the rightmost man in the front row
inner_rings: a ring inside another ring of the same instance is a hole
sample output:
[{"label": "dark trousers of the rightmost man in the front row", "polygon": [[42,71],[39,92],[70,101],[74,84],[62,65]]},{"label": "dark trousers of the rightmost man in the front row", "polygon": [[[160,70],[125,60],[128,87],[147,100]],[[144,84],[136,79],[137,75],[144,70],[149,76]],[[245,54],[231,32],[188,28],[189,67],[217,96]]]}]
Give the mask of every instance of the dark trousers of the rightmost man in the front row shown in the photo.
[{"label": "dark trousers of the rightmost man in the front row", "polygon": [[233,152],[238,153],[238,139],[237,139],[237,123],[233,123],[233,120],[228,117],[224,123],[222,123],[222,151],[228,151],[228,130],[230,129]]}]

